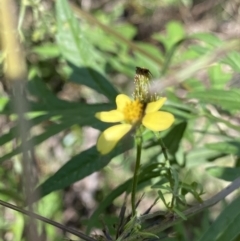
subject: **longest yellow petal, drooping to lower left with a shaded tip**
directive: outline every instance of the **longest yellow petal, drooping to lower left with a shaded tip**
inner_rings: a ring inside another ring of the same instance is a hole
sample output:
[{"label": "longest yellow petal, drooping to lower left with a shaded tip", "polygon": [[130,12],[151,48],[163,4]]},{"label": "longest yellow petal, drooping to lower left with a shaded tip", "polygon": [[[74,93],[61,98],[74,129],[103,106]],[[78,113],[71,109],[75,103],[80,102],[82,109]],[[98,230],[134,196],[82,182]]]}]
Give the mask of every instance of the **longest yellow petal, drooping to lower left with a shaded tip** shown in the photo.
[{"label": "longest yellow petal, drooping to lower left with a shaded tip", "polygon": [[132,128],[130,124],[119,124],[106,129],[99,136],[97,150],[102,154],[108,154]]}]

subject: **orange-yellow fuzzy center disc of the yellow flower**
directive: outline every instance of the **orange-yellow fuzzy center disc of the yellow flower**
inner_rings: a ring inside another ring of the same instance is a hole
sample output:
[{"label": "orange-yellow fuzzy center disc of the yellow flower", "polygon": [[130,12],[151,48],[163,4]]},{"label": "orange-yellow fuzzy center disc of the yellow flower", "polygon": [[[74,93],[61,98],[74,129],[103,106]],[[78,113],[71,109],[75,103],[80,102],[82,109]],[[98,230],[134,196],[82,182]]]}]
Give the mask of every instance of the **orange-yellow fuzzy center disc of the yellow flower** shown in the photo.
[{"label": "orange-yellow fuzzy center disc of the yellow flower", "polygon": [[126,104],[123,113],[127,123],[135,124],[142,118],[143,104],[139,100],[131,101]]}]

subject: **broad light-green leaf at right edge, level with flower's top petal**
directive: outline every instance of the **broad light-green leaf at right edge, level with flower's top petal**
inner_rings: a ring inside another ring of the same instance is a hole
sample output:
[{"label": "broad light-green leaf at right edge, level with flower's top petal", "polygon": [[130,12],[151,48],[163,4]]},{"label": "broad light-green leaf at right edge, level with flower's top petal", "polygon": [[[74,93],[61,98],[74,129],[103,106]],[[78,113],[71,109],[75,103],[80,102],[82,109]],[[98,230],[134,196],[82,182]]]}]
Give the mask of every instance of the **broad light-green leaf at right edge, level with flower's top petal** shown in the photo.
[{"label": "broad light-green leaf at right edge, level with flower's top petal", "polygon": [[203,103],[214,104],[226,110],[239,110],[240,106],[240,94],[234,90],[193,91],[187,97],[199,99]]}]

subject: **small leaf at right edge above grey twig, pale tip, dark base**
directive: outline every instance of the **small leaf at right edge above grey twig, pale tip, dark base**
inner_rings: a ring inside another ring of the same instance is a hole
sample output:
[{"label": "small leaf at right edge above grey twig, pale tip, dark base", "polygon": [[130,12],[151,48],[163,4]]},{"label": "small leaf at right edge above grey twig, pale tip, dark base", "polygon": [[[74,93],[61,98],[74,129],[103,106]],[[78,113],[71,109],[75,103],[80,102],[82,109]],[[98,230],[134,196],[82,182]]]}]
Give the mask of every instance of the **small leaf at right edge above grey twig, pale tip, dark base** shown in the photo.
[{"label": "small leaf at right edge above grey twig, pale tip, dark base", "polygon": [[206,170],[210,175],[228,182],[240,177],[240,167],[208,167]]}]

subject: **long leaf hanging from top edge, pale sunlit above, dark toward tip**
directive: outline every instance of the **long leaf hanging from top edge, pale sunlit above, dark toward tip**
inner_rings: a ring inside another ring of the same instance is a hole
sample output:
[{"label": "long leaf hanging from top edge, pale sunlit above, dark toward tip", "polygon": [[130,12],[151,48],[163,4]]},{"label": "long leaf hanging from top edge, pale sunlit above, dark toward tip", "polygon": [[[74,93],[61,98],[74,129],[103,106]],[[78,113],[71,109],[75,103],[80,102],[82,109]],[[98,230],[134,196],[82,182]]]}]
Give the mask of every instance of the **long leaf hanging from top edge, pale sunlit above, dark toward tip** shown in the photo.
[{"label": "long leaf hanging from top edge, pale sunlit above, dark toward tip", "polygon": [[80,28],[67,1],[58,0],[56,11],[57,43],[61,54],[72,63],[71,79],[115,100],[116,90],[106,78],[100,75],[104,59],[99,58],[98,51],[86,39],[84,30]]}]

